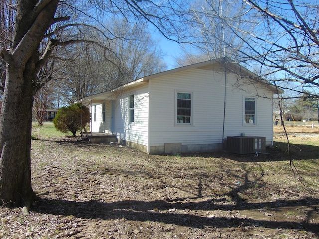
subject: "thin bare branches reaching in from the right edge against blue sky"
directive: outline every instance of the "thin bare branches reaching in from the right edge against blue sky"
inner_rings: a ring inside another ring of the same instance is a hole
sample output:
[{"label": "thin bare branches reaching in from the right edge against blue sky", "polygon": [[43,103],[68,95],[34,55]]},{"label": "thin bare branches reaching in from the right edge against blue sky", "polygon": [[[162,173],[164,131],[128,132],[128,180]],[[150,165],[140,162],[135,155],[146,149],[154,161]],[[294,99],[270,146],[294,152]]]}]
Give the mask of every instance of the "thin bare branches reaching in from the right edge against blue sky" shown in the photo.
[{"label": "thin bare branches reaching in from the right edge against blue sky", "polygon": [[244,41],[244,50],[238,50],[241,61],[258,67],[259,75],[289,93],[289,98],[319,98],[319,5],[295,0],[244,1],[251,7],[248,16],[260,19],[254,32],[224,19]]}]

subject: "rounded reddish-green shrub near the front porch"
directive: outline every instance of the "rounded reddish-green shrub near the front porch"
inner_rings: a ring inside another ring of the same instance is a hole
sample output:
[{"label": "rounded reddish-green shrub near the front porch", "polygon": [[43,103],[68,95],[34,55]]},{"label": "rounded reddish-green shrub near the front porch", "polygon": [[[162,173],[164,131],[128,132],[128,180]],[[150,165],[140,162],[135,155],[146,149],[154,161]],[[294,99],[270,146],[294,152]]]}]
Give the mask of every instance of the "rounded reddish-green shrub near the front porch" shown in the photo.
[{"label": "rounded reddish-green shrub near the front porch", "polygon": [[81,127],[88,124],[91,120],[90,110],[80,103],[62,107],[58,110],[53,119],[54,127],[62,133],[71,132],[75,137]]}]

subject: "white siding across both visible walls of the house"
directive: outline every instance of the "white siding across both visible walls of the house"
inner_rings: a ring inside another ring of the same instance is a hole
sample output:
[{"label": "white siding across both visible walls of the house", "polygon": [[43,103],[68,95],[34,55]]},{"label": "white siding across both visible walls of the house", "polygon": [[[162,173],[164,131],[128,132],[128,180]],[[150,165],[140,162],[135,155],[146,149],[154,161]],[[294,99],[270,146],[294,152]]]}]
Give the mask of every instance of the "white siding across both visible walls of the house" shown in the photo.
[{"label": "white siding across both visible walls of the house", "polygon": [[[191,68],[126,86],[116,92],[118,95],[112,95],[115,99],[114,133],[118,140],[143,145],[149,152],[154,148],[164,148],[166,143],[181,144],[182,148],[200,151],[200,145],[203,148],[206,145],[221,145],[227,136],[239,136],[241,133],[266,137],[266,143],[272,143],[272,92],[265,85],[253,85],[249,80],[245,82],[245,78],[238,78],[235,73],[227,73],[226,79],[225,85],[223,69]],[[188,107],[181,107],[187,108],[190,113],[177,112],[177,93],[190,94],[190,111],[189,104],[186,104]],[[130,96],[132,103],[133,95],[134,105],[130,107]],[[245,98],[255,99],[255,111],[250,114],[254,115],[255,124],[252,127],[247,127],[244,120]],[[105,123],[102,122],[102,102],[96,103],[93,132],[109,132],[111,102],[106,101]],[[133,114],[130,114],[131,109]],[[177,116],[185,117],[183,123],[177,122]]]}]

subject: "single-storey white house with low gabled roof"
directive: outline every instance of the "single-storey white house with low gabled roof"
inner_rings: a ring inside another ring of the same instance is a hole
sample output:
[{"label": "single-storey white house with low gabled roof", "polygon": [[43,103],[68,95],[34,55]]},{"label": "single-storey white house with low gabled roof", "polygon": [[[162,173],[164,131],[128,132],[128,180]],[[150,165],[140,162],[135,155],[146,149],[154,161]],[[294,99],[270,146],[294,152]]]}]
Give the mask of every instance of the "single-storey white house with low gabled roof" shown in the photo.
[{"label": "single-storey white house with low gabled roof", "polygon": [[146,76],[86,97],[92,132],[149,154],[212,152],[227,136],[273,143],[275,86],[227,58]]}]

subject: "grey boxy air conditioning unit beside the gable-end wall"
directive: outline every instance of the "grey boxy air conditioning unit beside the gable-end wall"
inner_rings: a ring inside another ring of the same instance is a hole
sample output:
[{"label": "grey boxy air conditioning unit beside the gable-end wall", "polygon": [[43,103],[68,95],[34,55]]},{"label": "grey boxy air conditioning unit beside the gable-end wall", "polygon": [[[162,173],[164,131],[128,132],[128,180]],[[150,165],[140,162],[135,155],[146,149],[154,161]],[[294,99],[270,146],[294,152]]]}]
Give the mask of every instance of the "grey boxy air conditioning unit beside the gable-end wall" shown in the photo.
[{"label": "grey boxy air conditioning unit beside the gable-end wall", "polygon": [[265,152],[266,138],[258,136],[227,136],[227,151],[235,154]]}]

